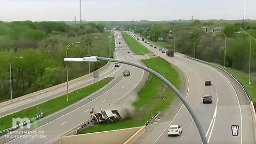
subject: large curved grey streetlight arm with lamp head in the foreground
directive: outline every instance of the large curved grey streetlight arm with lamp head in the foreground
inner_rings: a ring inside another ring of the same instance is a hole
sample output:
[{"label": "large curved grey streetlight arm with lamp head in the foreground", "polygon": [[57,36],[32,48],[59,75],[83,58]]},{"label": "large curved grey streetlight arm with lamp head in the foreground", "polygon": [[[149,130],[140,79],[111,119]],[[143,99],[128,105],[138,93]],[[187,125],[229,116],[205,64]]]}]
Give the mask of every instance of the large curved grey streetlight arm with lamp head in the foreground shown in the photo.
[{"label": "large curved grey streetlight arm with lamp head in the foreground", "polygon": [[175,92],[175,94],[177,94],[179,99],[183,102],[185,107],[188,109],[190,115],[193,117],[193,119],[195,121],[195,124],[197,126],[198,131],[199,131],[199,134],[201,136],[203,144],[207,144],[207,140],[205,138],[205,133],[204,133],[204,130],[203,130],[203,126],[201,125],[201,123],[199,121],[199,118],[194,113],[194,111],[193,111],[192,107],[189,105],[188,101],[185,99],[185,97],[180,93],[180,91],[171,82],[169,82],[165,77],[158,74],[153,69],[150,69],[146,66],[140,65],[138,63],[126,61],[126,60],[119,60],[119,59],[117,60],[117,59],[103,58],[103,57],[96,57],[96,56],[84,57],[84,58],[66,58],[66,59],[64,59],[64,61],[82,61],[82,62],[97,62],[99,60],[119,62],[119,63],[124,63],[124,64],[127,64],[127,65],[131,65],[131,66],[134,66],[134,67],[138,67],[138,68],[141,68],[143,70],[148,71],[149,73],[151,73],[151,74],[155,75],[156,77],[158,77],[159,79],[161,79],[166,85],[168,85]]}]

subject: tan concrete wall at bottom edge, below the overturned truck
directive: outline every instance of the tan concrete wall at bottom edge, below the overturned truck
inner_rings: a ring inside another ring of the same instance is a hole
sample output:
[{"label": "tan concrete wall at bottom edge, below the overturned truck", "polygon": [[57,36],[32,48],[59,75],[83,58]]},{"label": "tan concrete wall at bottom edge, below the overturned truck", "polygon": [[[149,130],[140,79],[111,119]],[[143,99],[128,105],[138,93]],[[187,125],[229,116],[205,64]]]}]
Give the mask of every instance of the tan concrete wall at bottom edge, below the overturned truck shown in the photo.
[{"label": "tan concrete wall at bottom edge, below the overturned truck", "polygon": [[[143,127],[133,127],[129,129],[121,129],[106,132],[95,132],[88,134],[71,135],[62,137],[61,142],[63,144],[69,143],[90,143],[90,144],[120,144],[126,142],[127,139],[131,138],[135,133],[138,135],[143,132]],[[145,129],[145,126],[144,126]],[[134,135],[134,139],[136,136]]]}]

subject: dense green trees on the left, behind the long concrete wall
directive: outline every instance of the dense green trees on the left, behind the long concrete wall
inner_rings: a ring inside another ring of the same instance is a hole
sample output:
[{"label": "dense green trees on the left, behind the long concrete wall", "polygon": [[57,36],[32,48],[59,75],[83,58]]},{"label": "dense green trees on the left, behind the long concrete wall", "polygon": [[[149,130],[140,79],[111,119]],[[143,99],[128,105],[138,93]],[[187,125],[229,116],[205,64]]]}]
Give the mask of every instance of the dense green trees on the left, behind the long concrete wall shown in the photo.
[{"label": "dense green trees on the left, behind the long concrete wall", "polygon": [[[102,32],[102,33],[101,33]],[[64,22],[0,22],[0,101],[10,99],[10,62],[13,98],[65,82],[66,49],[69,57],[91,55],[108,57],[109,34],[104,25],[87,23],[82,27]],[[90,41],[90,43],[89,43]],[[113,42],[114,43],[114,42]],[[113,44],[114,45],[114,44]],[[91,63],[91,71],[106,62]],[[69,79],[89,73],[88,63],[71,63]]]}]

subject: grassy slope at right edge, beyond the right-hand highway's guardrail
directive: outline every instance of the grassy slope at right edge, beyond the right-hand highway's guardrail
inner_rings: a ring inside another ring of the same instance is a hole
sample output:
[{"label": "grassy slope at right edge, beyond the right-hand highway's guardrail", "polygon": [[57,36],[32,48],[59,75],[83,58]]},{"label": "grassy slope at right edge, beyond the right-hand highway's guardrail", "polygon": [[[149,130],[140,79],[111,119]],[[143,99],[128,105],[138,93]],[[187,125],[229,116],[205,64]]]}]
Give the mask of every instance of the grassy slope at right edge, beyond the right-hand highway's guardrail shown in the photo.
[{"label": "grassy slope at right edge, beyond the right-hand highway's guardrail", "polygon": [[233,68],[226,68],[229,73],[235,76],[240,83],[243,84],[247,93],[249,93],[254,105],[256,106],[256,74],[251,74],[251,85],[249,84],[249,74],[235,70]]}]

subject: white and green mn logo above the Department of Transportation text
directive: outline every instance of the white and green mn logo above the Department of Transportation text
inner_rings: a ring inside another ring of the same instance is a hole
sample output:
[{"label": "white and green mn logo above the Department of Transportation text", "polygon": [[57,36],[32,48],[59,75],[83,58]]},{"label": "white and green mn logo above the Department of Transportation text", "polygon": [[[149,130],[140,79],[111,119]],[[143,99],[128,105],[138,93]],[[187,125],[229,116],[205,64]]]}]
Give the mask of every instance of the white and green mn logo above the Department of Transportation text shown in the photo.
[{"label": "white and green mn logo above the Department of Transportation text", "polygon": [[20,118],[20,117],[12,118],[12,127],[16,127],[18,125],[18,127],[23,129],[23,126],[26,124],[27,129],[30,129],[31,122],[33,123],[34,129],[36,129],[37,128],[37,119],[36,118],[32,118],[32,119],[29,119],[27,117],[24,117],[24,118]]}]

